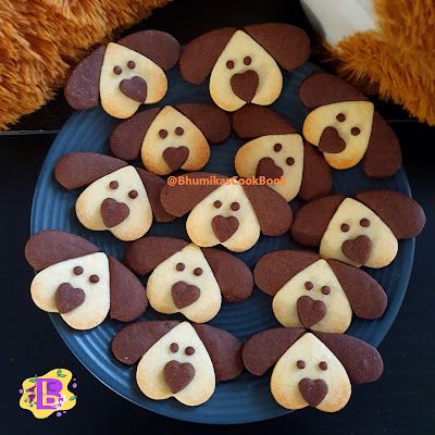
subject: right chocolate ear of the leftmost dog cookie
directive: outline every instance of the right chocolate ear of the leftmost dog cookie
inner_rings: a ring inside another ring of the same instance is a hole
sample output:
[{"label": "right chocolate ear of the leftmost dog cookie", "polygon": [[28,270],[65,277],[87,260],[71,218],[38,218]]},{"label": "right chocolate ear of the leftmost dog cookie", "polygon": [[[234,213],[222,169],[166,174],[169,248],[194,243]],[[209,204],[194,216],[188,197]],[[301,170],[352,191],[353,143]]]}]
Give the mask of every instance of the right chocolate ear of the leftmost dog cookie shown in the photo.
[{"label": "right chocolate ear of the leftmost dog cookie", "polygon": [[145,287],[124,264],[109,257],[110,318],[130,322],[144,314],[148,307]]}]

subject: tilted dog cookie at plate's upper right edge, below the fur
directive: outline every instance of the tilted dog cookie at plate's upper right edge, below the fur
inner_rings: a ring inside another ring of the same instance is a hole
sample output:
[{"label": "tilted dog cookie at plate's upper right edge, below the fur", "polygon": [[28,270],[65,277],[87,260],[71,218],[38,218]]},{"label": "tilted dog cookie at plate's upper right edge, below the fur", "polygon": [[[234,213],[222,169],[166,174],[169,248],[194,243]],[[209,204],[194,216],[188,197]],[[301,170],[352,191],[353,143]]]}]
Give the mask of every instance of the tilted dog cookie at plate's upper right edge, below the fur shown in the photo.
[{"label": "tilted dog cookie at plate's upper right edge, below the fur", "polygon": [[363,159],[364,173],[374,178],[391,176],[400,169],[396,134],[351,85],[315,73],[302,82],[299,98],[311,111],[303,122],[303,137],[323,152],[332,167],[346,170]]}]

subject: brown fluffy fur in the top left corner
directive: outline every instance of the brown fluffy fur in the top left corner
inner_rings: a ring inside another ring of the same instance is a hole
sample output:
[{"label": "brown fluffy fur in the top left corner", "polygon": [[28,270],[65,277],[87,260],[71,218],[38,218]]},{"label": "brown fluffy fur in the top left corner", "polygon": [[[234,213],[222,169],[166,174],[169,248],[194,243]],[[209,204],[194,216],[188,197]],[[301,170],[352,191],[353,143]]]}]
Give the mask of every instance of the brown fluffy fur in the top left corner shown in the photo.
[{"label": "brown fluffy fur in the top left corner", "polygon": [[92,46],[167,1],[0,1],[0,129],[50,99]]}]

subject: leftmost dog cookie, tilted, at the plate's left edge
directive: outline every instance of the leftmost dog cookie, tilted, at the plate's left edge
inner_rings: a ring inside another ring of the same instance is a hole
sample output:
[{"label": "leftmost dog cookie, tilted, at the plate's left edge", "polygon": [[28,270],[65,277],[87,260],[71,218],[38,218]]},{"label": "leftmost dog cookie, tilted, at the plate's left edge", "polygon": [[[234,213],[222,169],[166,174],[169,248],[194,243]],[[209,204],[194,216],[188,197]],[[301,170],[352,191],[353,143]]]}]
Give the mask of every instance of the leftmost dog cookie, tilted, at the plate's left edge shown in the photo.
[{"label": "leftmost dog cookie, tilted, at the plate's left edge", "polygon": [[58,312],[75,330],[90,330],[111,319],[129,322],[145,312],[147,295],[127,268],[73,234],[45,229],[26,244],[37,271],[30,294],[38,308]]}]

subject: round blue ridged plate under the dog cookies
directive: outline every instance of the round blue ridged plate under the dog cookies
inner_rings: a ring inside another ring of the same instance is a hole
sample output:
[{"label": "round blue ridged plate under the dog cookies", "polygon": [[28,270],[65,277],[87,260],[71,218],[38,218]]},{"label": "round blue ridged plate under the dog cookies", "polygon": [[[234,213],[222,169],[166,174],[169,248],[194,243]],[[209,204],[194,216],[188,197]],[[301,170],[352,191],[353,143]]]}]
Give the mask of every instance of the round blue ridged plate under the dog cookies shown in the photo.
[{"label": "round blue ridged plate under the dog cookies", "polygon": [[[284,114],[300,130],[307,110],[297,97],[301,80],[320,71],[312,64],[289,75],[284,73],[284,88],[279,99],[272,105]],[[159,105],[182,102],[211,102],[208,84],[195,86],[184,82],[178,72],[169,73],[169,92]],[[144,108],[144,107],[142,107]],[[44,163],[35,191],[32,234],[45,228],[55,228],[78,234],[98,245],[107,253],[123,258],[125,244],[109,232],[90,232],[84,228],[74,212],[78,191],[69,192],[53,178],[53,167],[58,159],[71,151],[108,152],[108,138],[117,120],[110,117],[101,109],[74,113],[55,138]],[[233,134],[224,144],[211,147],[211,158],[204,171],[234,175],[233,161],[240,140]],[[387,188],[410,195],[407,177],[401,170],[386,181],[366,177],[360,165],[348,171],[334,171],[334,191],[352,195],[366,188]],[[294,210],[298,201],[293,201]],[[148,235],[166,235],[187,238],[185,219],[173,223],[153,224]],[[266,252],[294,248],[296,245],[288,234],[281,237],[261,236],[250,250],[237,254],[250,268]],[[363,321],[353,318],[348,331],[350,335],[377,346],[397,315],[405,296],[413,261],[414,240],[401,240],[395,261],[381,270],[369,270],[388,295],[388,308],[382,319]],[[271,309],[272,298],[254,289],[252,297],[238,303],[224,302],[216,318],[210,324],[222,327],[246,340],[259,331],[277,326]],[[110,343],[124,324],[105,320],[91,331],[75,331],[69,327],[58,314],[50,314],[64,341],[80,362],[102,383],[126,399],[148,410],[174,419],[200,423],[247,423],[283,415],[289,411],[277,405],[271,396],[270,375],[256,377],[243,373],[238,378],[217,385],[211,399],[189,408],[175,399],[154,401],[145,397],[136,385],[136,366],[126,366],[117,362],[110,351]],[[148,309],[144,319],[164,319],[152,309]],[[166,316],[167,318],[167,316]],[[142,320],[144,320],[142,319]],[[358,391],[356,393],[358,394]]]}]

